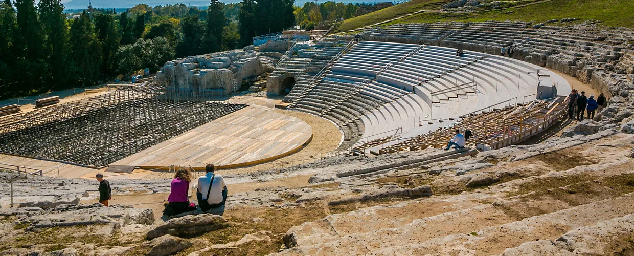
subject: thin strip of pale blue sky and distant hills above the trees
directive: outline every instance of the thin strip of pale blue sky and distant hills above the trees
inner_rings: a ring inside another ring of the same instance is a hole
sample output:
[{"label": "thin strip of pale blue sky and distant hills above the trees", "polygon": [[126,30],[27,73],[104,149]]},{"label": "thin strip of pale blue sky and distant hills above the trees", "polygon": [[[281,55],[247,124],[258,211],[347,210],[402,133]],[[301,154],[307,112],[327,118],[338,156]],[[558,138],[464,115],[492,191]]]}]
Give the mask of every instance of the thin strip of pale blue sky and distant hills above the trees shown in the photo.
[{"label": "thin strip of pale blue sky and distant hills above the trees", "polygon": [[[165,4],[176,4],[176,3],[183,3],[183,4],[187,4],[188,6],[207,6],[209,5],[209,1],[166,1],[166,0],[146,0],[146,1],[140,1],[139,3],[134,3],[134,4],[130,4],[129,1],[124,1],[124,0],[94,0],[93,2],[93,8],[107,8],[107,9],[112,9],[112,8],[133,8],[134,6],[136,6],[136,4],[148,4],[149,6],[157,6],[157,5],[162,5],[164,6]],[[221,2],[223,3],[240,3],[240,0],[221,0]],[[304,5],[304,3],[306,2],[310,2],[309,0],[295,0],[295,5],[296,6],[302,6]],[[327,2],[327,0],[323,0],[323,1],[316,1],[316,3],[324,3]],[[381,0],[381,1],[363,1],[363,0],[346,0],[346,1],[335,1],[335,2],[341,2],[341,3],[382,3],[382,2],[392,2],[392,1],[387,1],[387,0]],[[67,1],[62,1],[62,3],[64,4],[64,7],[67,10],[82,10],[82,9],[86,9],[88,7],[88,0],[67,0]]]}]

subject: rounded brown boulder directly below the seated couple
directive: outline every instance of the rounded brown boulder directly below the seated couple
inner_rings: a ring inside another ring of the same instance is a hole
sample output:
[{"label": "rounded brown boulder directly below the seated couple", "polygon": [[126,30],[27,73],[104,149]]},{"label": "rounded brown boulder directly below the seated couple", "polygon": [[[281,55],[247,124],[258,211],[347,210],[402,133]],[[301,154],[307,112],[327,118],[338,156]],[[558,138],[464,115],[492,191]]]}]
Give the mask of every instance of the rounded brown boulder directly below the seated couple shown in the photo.
[{"label": "rounded brown boulder directly below the seated couple", "polygon": [[167,222],[148,232],[148,239],[158,238],[165,234],[172,236],[188,236],[210,232],[226,227],[227,221],[218,215],[204,213],[200,215],[188,215],[176,219],[167,220]]}]

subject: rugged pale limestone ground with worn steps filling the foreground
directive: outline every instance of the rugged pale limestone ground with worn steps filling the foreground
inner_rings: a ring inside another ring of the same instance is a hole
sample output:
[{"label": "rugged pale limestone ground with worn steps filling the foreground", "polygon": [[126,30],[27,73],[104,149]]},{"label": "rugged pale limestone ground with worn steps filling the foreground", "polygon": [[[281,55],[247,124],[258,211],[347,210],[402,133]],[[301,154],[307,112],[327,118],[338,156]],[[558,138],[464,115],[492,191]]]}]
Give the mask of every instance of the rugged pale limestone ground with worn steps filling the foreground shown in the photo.
[{"label": "rugged pale limestone ground with worn steps filling the foreground", "polygon": [[[0,255],[631,255],[630,126],[585,121],[562,138],[497,151],[328,158],[227,175],[229,184],[264,185],[173,219],[78,203],[96,197],[93,180],[0,172]],[[309,184],[275,183],[292,177]],[[6,205],[11,180],[15,208]],[[122,180],[113,189],[133,201],[168,185]]]}]

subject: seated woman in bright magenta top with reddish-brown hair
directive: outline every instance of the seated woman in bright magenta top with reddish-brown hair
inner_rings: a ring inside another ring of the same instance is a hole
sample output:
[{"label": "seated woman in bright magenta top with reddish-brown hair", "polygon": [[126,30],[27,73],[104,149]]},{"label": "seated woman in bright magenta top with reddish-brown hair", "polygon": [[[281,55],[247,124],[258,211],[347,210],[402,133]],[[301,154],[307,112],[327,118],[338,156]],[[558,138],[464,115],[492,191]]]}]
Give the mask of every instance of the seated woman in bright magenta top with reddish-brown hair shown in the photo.
[{"label": "seated woman in bright magenta top with reddish-brown hair", "polygon": [[163,215],[173,216],[196,210],[190,207],[190,182],[191,173],[189,170],[181,169],[176,172],[172,180],[171,191],[169,197],[167,197],[167,205],[165,205]]}]

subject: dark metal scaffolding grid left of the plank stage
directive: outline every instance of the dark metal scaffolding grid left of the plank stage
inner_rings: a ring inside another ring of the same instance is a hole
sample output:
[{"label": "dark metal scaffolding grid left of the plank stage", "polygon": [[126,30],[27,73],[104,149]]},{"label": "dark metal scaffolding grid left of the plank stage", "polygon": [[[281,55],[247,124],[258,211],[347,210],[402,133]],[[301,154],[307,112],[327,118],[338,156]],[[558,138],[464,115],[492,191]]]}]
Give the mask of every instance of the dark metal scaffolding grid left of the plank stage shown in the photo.
[{"label": "dark metal scaffolding grid left of the plank stage", "polygon": [[[183,93],[181,91],[181,93]],[[0,151],[105,166],[246,105],[136,87],[0,118]]]}]

